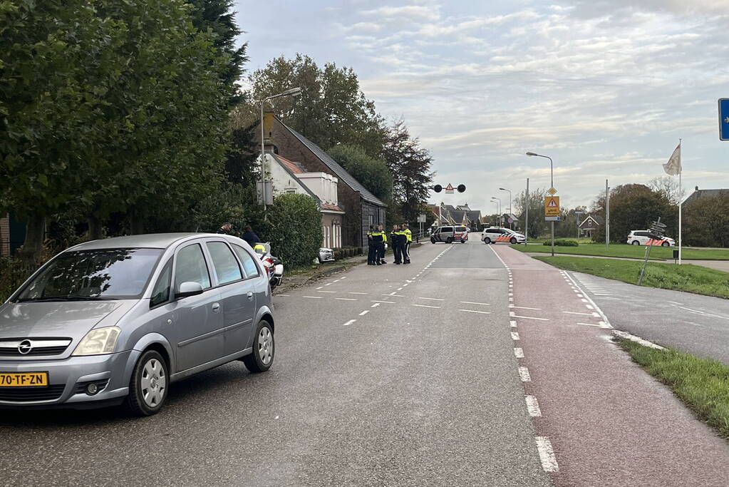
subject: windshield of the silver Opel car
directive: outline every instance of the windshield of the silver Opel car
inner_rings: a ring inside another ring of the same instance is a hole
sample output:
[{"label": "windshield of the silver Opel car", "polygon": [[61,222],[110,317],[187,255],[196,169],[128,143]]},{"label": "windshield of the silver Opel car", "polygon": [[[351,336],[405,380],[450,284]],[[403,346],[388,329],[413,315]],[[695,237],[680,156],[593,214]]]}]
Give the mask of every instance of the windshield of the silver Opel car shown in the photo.
[{"label": "windshield of the silver Opel car", "polygon": [[17,301],[120,300],[141,297],[163,249],[66,252],[20,292]]}]

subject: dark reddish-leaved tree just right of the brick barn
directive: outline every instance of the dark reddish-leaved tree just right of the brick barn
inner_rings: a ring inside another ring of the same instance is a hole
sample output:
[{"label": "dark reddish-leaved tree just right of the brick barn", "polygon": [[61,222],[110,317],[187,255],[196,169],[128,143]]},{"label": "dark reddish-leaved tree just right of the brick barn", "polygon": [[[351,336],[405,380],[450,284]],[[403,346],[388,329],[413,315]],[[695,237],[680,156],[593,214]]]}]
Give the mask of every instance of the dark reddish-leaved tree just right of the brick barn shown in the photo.
[{"label": "dark reddish-leaved tree just right of the brick barn", "polygon": [[418,139],[410,137],[402,120],[387,129],[382,157],[392,174],[392,199],[402,218],[414,222],[429,195],[433,159]]}]

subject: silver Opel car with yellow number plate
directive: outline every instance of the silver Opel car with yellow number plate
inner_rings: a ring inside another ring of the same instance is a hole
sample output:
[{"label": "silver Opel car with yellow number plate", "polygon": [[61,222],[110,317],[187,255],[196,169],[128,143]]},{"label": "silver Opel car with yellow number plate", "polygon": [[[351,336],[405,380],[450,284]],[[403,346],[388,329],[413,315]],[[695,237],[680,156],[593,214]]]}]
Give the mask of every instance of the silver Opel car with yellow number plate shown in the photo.
[{"label": "silver Opel car with yellow number plate", "polygon": [[268,277],[230,235],[108,238],[58,254],[0,306],[0,408],[148,416],[171,383],[273,363]]}]

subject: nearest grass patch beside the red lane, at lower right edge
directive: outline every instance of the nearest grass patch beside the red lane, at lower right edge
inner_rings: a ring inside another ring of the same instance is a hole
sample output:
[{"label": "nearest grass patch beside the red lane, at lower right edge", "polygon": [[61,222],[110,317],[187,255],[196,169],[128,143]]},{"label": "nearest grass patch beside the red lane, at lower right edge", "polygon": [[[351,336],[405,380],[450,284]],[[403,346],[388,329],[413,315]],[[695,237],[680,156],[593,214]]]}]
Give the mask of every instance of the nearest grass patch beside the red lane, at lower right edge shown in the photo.
[{"label": "nearest grass patch beside the red lane, at lower right edge", "polygon": [[706,424],[729,439],[729,367],[711,359],[664,348],[658,350],[631,340],[617,340],[658,381],[670,387]]}]

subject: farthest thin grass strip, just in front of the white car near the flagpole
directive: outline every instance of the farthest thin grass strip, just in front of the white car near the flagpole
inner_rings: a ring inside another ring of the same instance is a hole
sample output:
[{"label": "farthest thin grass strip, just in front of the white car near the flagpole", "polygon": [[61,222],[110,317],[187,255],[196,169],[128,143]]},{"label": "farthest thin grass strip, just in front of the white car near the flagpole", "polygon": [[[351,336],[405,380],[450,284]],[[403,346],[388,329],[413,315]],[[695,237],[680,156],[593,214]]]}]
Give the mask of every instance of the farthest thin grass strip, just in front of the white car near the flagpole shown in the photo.
[{"label": "farthest thin grass strip, just in front of the white car near the flagpole", "polygon": [[[531,241],[531,240],[530,240]],[[551,253],[551,246],[515,245],[513,248],[521,252]],[[673,260],[676,247],[655,246],[650,251],[651,260]],[[596,255],[601,257],[631,257],[643,259],[645,247],[628,244],[582,244],[577,247],[555,247],[555,254]],[[685,260],[729,260],[729,249],[683,249]]]}]

